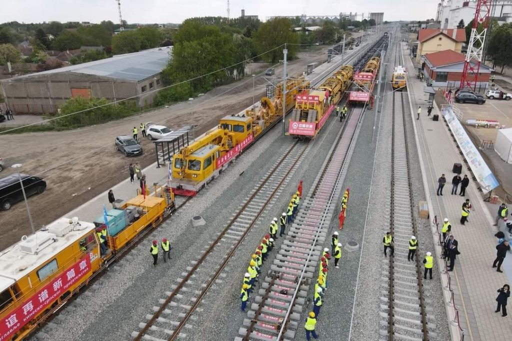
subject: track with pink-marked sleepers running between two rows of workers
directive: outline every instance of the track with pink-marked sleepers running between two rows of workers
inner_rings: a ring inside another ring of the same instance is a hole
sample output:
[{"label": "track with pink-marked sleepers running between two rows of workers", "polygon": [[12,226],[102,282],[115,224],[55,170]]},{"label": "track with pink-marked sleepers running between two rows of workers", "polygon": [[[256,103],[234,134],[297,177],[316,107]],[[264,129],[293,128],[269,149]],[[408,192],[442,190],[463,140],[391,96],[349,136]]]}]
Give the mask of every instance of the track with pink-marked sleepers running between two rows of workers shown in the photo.
[{"label": "track with pink-marked sleepers running between two rows of workers", "polygon": [[[342,191],[342,178],[352,153],[364,108],[356,108],[340,130],[322,171],[315,179],[293,225],[263,279],[236,341],[292,340],[303,329],[308,290],[314,285],[323,244]],[[283,293],[282,290],[287,290]]]}]

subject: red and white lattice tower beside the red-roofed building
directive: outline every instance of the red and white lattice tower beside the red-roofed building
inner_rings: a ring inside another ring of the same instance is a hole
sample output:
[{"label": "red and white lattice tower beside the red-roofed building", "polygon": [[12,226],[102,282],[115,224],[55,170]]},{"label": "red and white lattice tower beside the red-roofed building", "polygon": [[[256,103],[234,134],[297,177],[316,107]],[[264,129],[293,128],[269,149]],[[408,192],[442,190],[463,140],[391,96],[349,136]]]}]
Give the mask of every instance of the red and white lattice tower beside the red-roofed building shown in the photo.
[{"label": "red and white lattice tower beside the red-roofed building", "polygon": [[[476,88],[478,73],[480,72],[480,63],[482,62],[485,35],[487,34],[487,27],[489,26],[492,2],[492,0],[478,0],[477,2],[459,89],[470,88],[475,90]],[[477,28],[480,24],[483,29],[482,32],[478,33]],[[472,60],[474,61],[473,65],[471,63]]]}]

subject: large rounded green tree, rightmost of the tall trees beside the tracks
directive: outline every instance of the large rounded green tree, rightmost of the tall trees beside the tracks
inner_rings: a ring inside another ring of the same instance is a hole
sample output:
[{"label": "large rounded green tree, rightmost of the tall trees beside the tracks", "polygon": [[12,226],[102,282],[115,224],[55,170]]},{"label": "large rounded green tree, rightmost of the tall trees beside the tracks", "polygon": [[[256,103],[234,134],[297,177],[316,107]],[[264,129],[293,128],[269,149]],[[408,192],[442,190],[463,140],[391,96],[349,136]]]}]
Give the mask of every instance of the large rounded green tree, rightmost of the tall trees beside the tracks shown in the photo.
[{"label": "large rounded green tree, rightmost of the tall trees beside the tracks", "polygon": [[[300,37],[291,31],[291,23],[287,18],[268,20],[260,25],[260,28],[253,36],[258,54],[266,52],[262,59],[271,63],[276,63],[279,59],[283,58],[282,45],[285,43],[298,44],[300,42]],[[288,58],[290,60],[295,57],[296,51],[297,46],[288,45]]]}]

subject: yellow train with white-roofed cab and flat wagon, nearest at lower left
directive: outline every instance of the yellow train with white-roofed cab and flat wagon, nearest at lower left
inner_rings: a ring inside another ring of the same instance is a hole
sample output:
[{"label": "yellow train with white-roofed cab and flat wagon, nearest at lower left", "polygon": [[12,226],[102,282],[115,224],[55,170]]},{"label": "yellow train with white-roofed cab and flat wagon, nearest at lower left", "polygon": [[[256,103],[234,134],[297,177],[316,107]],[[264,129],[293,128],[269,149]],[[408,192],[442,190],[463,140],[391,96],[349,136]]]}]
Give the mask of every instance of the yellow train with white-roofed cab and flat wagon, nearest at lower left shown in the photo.
[{"label": "yellow train with white-roofed cab and flat wagon, nearest at lower left", "polygon": [[28,337],[174,205],[172,191],[156,187],[94,222],[60,218],[0,252],[0,340]]}]

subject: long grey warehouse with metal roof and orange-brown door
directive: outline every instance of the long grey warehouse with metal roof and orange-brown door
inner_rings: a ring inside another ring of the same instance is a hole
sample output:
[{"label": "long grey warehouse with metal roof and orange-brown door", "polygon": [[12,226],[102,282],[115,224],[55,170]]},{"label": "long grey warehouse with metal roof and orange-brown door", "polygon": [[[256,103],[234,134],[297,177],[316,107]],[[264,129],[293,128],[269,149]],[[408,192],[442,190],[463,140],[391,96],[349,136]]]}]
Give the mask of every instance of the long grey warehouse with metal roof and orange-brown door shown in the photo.
[{"label": "long grey warehouse with metal roof and orange-brown door", "polygon": [[162,70],[172,47],[121,54],[60,69],[0,81],[0,91],[14,113],[55,113],[67,99],[133,98],[140,107],[153,103],[162,87]]}]

